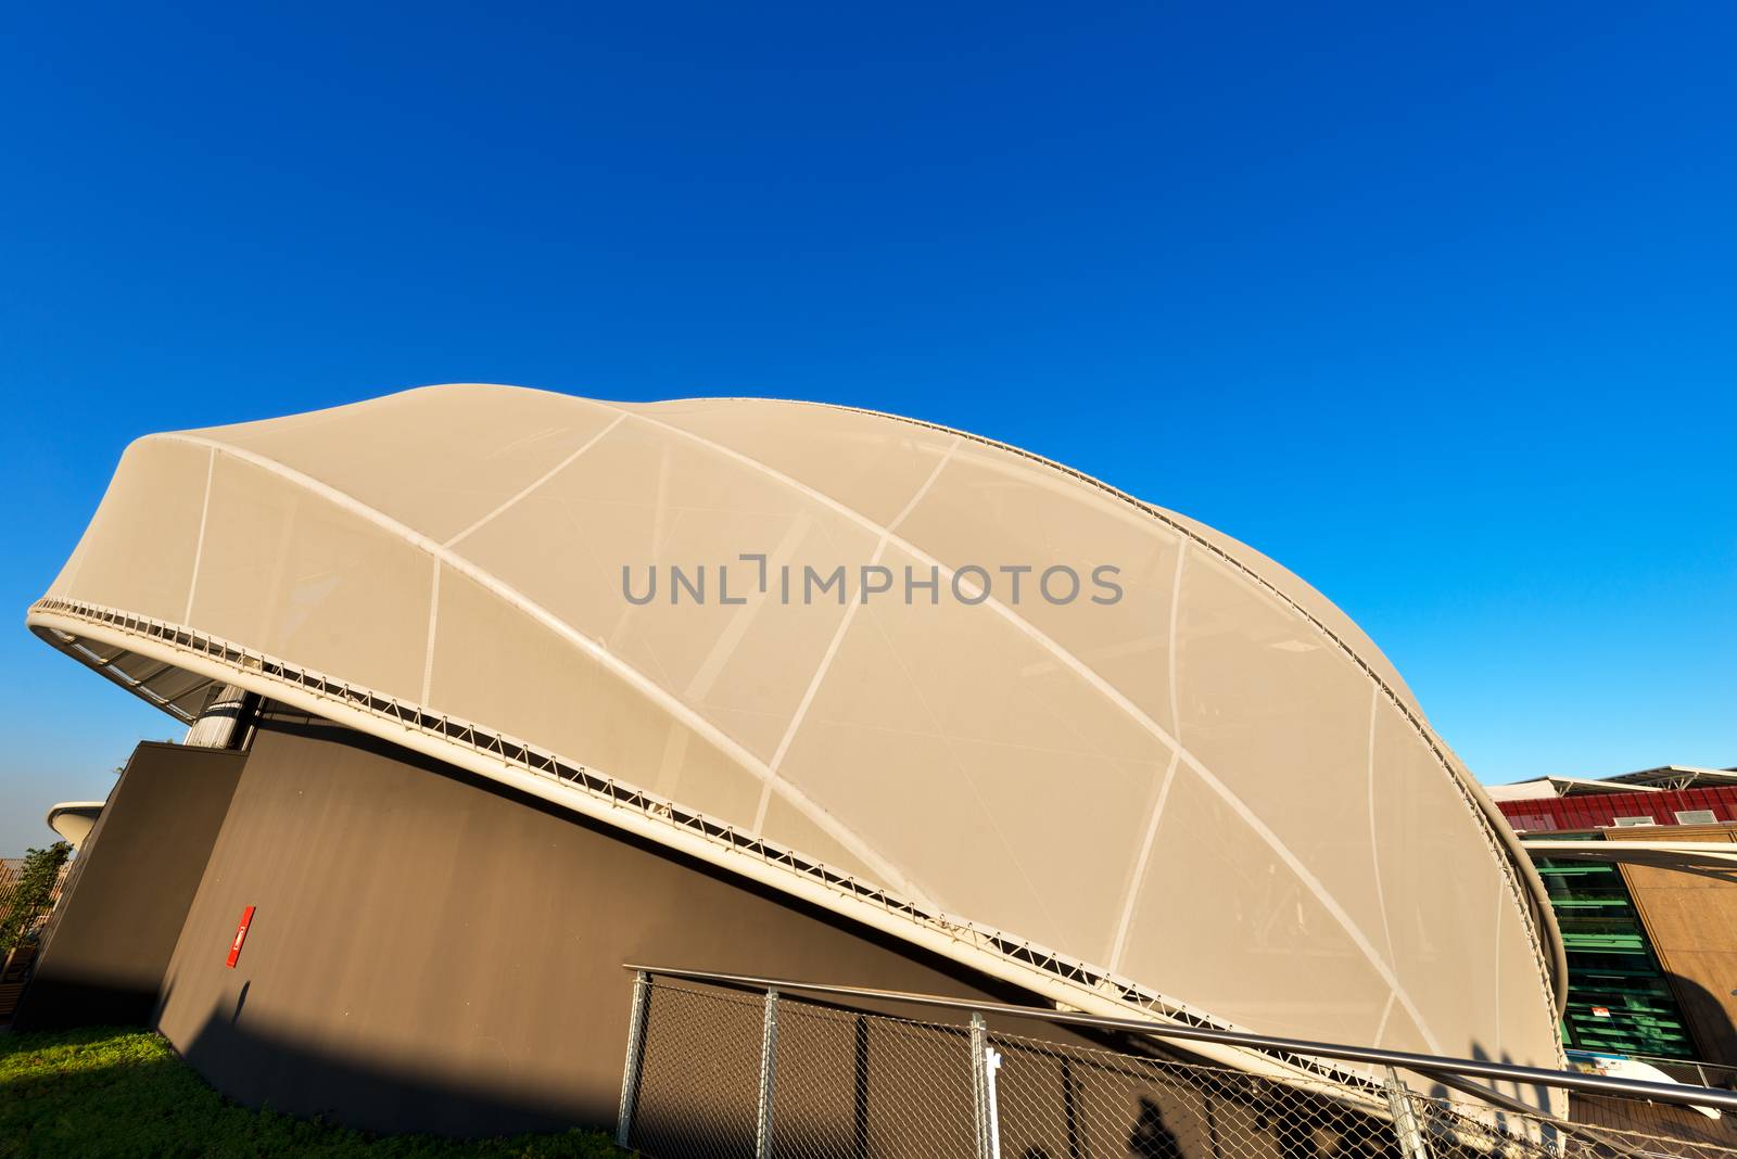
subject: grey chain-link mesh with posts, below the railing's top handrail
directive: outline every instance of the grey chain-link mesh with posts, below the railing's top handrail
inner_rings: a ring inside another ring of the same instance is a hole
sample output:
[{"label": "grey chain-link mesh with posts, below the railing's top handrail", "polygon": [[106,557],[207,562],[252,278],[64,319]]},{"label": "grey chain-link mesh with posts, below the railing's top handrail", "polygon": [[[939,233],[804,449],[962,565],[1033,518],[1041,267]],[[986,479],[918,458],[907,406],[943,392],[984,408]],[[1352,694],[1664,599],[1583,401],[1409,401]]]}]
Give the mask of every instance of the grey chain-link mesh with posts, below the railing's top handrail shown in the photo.
[{"label": "grey chain-link mesh with posts, below the railing's top handrail", "polygon": [[1011,1034],[980,1015],[919,1022],[643,977],[620,1142],[651,1159],[1737,1156],[1737,1130],[1694,1109],[1570,1105],[1556,1119],[1473,1107],[1393,1072],[1273,1079],[1157,1048]]}]

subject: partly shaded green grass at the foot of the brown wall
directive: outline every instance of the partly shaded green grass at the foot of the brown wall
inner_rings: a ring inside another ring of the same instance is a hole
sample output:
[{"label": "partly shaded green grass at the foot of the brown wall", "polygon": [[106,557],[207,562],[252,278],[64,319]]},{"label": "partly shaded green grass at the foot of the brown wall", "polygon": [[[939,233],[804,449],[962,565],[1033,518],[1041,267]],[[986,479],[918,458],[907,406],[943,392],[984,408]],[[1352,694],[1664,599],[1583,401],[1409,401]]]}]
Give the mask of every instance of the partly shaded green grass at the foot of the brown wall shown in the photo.
[{"label": "partly shaded green grass at the foot of the brown wall", "polygon": [[516,1156],[618,1159],[598,1131],[459,1142],[368,1135],[214,1091],[156,1034],[0,1034],[0,1156]]}]

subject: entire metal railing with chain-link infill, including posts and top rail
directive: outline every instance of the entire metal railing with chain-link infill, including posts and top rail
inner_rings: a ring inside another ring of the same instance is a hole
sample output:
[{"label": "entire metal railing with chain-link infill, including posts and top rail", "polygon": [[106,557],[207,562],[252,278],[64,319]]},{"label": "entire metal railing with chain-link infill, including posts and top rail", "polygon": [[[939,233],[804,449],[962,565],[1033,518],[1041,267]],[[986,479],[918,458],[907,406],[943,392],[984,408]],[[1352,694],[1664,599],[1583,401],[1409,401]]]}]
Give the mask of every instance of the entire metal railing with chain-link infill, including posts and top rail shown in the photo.
[{"label": "entire metal railing with chain-link infill, including posts and top rail", "polygon": [[[655,1159],[1737,1156],[1737,1117],[1721,1117],[1737,1110],[1732,1091],[935,994],[629,968],[617,1136]],[[935,1020],[888,1008],[935,1012]],[[1034,1020],[1068,1041],[1016,1032]],[[1341,1077],[1202,1062],[1185,1053],[1197,1041],[1311,1057]]]}]

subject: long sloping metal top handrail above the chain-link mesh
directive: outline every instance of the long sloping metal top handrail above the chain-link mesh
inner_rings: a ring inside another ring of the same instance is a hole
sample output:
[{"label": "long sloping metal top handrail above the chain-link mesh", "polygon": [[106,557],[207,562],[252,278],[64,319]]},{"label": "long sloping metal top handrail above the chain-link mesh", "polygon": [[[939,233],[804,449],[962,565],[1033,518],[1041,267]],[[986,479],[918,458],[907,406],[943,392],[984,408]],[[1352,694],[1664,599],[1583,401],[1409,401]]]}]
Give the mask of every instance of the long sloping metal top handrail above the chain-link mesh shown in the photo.
[{"label": "long sloping metal top handrail above the chain-link mesh", "polygon": [[[1706,1086],[1688,1086],[1678,1083],[1647,1083],[1643,1079],[1619,1079],[1602,1074],[1581,1074],[1577,1071],[1549,1071],[1546,1067],[1522,1067],[1511,1062],[1487,1062],[1482,1058],[1450,1058],[1438,1055],[1419,1055],[1403,1050],[1379,1050],[1374,1046],[1348,1046],[1344,1043],[1311,1043],[1294,1038],[1270,1038],[1265,1034],[1245,1034],[1242,1031],[1209,1031],[1205,1027],[1178,1025],[1169,1022],[1148,1022],[1143,1018],[1101,1018],[1098,1015],[1075,1013],[1072,1010],[1044,1010],[1039,1006],[1014,1006],[1009,1003],[983,1001],[973,998],[943,998],[940,994],[915,994],[910,991],[882,991],[867,985],[832,985],[823,982],[797,982],[792,979],[771,979],[747,973],[719,973],[712,970],[683,970],[674,966],[624,965],[625,970],[644,972],[651,977],[683,979],[688,982],[709,982],[712,985],[740,989],[776,989],[780,992],[796,991],[804,994],[830,994],[834,998],[867,998],[877,1001],[908,1003],[914,1006],[936,1006],[945,1010],[973,1010],[1009,1018],[1035,1018],[1039,1022],[1056,1022],[1063,1025],[1086,1025],[1105,1031],[1127,1031],[1150,1034],[1164,1039],[1181,1039],[1195,1043],[1219,1043],[1265,1051],[1285,1051],[1292,1055],[1313,1055],[1317,1058],[1334,1058],[1341,1062],[1365,1062],[1386,1067],[1398,1067],[1430,1077],[1457,1076],[1508,1081],[1522,1086],[1556,1086],[1582,1095],[1614,1095],[1617,1098],[1645,1098],[1664,1103],[1683,1103],[1690,1107],[1716,1107],[1720,1110],[1737,1110],[1737,1091],[1721,1091]],[[1449,1083],[1461,1086],[1459,1083]],[[1480,1097],[1506,1097],[1496,1091],[1476,1090]],[[1530,1114],[1537,1109],[1527,1107]]]}]

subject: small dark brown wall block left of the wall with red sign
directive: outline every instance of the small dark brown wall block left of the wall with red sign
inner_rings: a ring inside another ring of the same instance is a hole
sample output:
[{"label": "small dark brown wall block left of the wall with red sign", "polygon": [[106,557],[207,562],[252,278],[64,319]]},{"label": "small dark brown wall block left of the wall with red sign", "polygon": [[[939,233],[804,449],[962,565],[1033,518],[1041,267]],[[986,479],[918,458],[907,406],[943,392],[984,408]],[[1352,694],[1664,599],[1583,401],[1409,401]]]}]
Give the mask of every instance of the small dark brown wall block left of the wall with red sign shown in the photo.
[{"label": "small dark brown wall block left of the wall with red sign", "polygon": [[245,756],[141,744],[78,855],[19,1031],[148,1022]]}]

